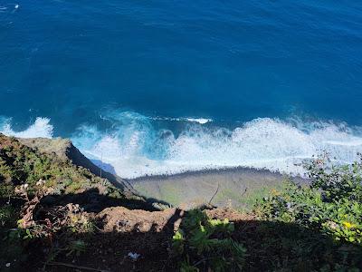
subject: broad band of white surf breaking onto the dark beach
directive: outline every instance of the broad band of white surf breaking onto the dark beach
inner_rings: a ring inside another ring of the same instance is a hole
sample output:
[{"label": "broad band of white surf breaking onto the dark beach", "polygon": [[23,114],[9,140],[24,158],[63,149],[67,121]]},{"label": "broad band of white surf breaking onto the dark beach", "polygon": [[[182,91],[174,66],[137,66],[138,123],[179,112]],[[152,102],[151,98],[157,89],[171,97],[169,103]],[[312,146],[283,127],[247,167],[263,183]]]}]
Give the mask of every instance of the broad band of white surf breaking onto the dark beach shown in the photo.
[{"label": "broad band of white surf breaking onto the dark beach", "polygon": [[322,151],[339,162],[356,160],[357,152],[362,152],[358,128],[352,131],[332,123],[292,125],[262,118],[233,130],[195,123],[174,135],[131,112],[110,120],[115,122],[113,131],[82,127],[73,139],[90,159],[101,157],[119,176],[129,179],[238,166],[303,175],[301,162]]}]

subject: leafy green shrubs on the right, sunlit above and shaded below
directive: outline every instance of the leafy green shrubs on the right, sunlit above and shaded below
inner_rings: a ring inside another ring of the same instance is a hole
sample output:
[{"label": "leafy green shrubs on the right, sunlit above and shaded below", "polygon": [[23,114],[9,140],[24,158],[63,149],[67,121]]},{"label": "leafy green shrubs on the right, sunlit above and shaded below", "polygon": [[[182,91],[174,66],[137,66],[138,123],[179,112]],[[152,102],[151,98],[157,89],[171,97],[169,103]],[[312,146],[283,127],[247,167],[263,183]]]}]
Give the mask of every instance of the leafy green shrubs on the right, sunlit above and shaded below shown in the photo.
[{"label": "leafy green shrubs on the right, sunlit above and shaded below", "polygon": [[255,194],[249,219],[186,213],[173,237],[181,271],[360,271],[362,163],[324,157],[306,167],[309,185],[286,181]]}]

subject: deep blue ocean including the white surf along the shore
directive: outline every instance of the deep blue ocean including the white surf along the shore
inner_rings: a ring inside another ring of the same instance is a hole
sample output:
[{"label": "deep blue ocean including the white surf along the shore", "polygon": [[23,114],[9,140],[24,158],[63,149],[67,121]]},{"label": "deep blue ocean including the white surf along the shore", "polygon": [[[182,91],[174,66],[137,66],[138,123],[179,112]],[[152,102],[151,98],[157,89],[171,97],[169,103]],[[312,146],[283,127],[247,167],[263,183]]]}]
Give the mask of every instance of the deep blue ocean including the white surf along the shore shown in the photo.
[{"label": "deep blue ocean including the white surf along the shore", "polygon": [[123,177],[362,151],[359,1],[0,0],[0,131]]}]

